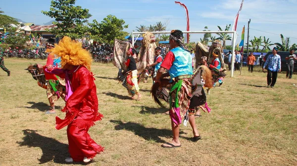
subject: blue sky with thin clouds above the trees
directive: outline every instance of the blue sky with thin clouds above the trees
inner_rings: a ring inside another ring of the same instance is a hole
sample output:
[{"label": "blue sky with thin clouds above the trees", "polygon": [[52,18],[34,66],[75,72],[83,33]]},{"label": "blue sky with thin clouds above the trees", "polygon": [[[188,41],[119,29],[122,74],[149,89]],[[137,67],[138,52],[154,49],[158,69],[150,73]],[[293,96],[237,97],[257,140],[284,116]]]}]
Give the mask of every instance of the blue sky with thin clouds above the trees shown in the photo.
[{"label": "blue sky with thin clouds above the trees", "polygon": [[[51,0],[7,0],[0,5],[4,14],[19,18],[25,22],[44,24],[52,20],[41,13],[49,10]],[[217,26],[225,28],[233,25],[242,0],[180,0],[189,10],[190,30],[202,31],[205,26],[217,31]],[[125,20],[129,25],[126,32],[131,33],[140,25],[153,25],[158,21],[167,24],[167,31],[186,30],[185,10],[174,0],[77,0],[76,5],[88,8],[93,16],[89,19],[101,21],[112,14]],[[239,16],[237,32],[251,19],[249,39],[265,36],[271,42],[281,42],[280,34],[290,37],[290,44],[297,43],[297,0],[245,0]],[[214,34],[213,34],[214,35]],[[191,35],[191,41],[197,42],[202,35]],[[247,30],[245,42],[247,40]],[[227,42],[231,44],[231,42]]]}]

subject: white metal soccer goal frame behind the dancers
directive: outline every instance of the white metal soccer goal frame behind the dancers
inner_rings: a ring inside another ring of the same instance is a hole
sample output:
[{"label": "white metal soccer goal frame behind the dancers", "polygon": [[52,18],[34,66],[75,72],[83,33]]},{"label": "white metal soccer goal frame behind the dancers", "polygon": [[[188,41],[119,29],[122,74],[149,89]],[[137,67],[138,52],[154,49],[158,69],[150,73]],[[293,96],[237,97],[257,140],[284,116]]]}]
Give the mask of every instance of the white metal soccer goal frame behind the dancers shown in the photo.
[{"label": "white metal soccer goal frame behind the dancers", "polygon": [[[184,34],[221,34],[221,33],[226,33],[226,34],[232,34],[232,57],[231,57],[231,62],[234,62],[235,59],[235,41],[237,38],[237,33],[236,31],[182,31]],[[139,37],[140,34],[145,34],[147,32],[132,32],[132,44],[134,45],[134,34],[138,35],[137,38]],[[171,32],[150,32],[152,34],[170,34]],[[231,63],[231,77],[234,75],[234,63]]]}]

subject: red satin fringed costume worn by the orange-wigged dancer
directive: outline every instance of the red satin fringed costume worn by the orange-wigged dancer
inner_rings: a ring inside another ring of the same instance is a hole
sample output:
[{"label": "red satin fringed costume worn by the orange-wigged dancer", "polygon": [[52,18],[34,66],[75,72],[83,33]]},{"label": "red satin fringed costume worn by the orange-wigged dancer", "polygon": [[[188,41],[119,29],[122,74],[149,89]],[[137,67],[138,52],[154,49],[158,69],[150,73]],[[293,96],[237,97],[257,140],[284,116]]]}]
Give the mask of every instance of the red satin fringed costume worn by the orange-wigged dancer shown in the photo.
[{"label": "red satin fringed costume worn by the orange-wigged dancer", "polygon": [[[65,78],[66,73],[59,74]],[[56,129],[67,127],[69,153],[74,162],[83,161],[84,157],[94,158],[103,151],[88,134],[94,122],[103,117],[98,112],[98,98],[94,77],[84,66],[75,66],[72,71],[67,71],[73,94],[66,101],[62,110],[66,112],[64,120],[56,117]]]}]

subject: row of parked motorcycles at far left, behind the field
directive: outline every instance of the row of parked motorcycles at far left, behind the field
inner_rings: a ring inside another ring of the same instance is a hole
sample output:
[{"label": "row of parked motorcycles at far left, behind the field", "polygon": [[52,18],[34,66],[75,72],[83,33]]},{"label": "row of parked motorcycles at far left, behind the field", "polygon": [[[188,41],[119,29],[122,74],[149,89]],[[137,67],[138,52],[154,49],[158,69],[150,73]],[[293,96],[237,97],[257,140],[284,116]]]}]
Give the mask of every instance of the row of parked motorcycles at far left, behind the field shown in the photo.
[{"label": "row of parked motorcycles at far left, behind the field", "polygon": [[46,48],[35,48],[35,49],[11,49],[2,50],[3,56],[9,58],[26,58],[26,59],[47,59],[48,54],[45,52]]}]

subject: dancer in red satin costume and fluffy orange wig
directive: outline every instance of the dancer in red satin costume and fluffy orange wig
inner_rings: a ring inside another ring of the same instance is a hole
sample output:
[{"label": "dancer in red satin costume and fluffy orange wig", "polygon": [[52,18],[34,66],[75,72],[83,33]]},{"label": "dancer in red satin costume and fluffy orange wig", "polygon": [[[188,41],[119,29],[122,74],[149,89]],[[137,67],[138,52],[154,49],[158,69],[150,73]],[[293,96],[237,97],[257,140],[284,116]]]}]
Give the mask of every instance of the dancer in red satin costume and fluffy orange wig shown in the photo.
[{"label": "dancer in red satin costume and fluffy orange wig", "polygon": [[[75,51],[73,51],[75,50]],[[56,117],[56,129],[67,127],[70,158],[66,162],[90,162],[103,147],[88,134],[88,130],[103,117],[98,112],[98,98],[93,74],[90,72],[92,56],[81,43],[64,37],[59,44],[48,50],[61,57],[62,69],[46,69],[66,81],[66,112],[64,120]]]}]

